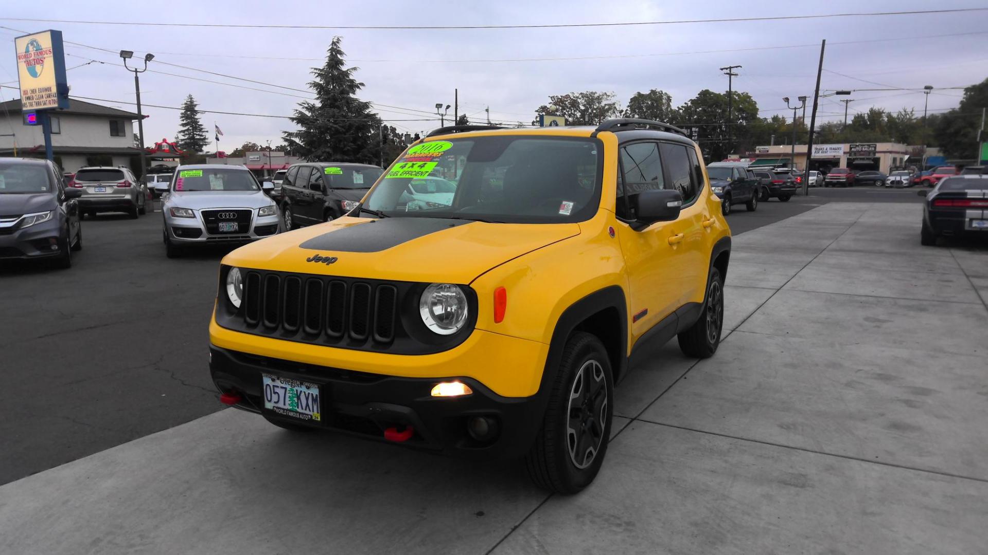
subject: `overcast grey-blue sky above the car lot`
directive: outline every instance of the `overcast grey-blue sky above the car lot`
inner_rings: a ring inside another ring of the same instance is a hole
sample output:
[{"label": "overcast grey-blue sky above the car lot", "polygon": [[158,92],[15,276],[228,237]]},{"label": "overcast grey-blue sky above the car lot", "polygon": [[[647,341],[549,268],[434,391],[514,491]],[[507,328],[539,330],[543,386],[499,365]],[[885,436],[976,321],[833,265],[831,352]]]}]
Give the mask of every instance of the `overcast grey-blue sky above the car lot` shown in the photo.
[{"label": "overcast grey-blue sky above the car lot", "polygon": [[[623,106],[636,91],[657,88],[669,92],[679,106],[701,89],[726,91],[727,77],[717,69],[742,65],[734,88],[751,93],[762,116],[786,114],[782,97],[812,96],[819,42],[827,40],[824,68],[864,79],[867,83],[824,72],[822,89],[958,87],[988,77],[988,12],[831,18],[783,22],[728,22],[611,28],[522,30],[284,30],[146,26],[107,26],[79,23],[10,21],[2,18],[49,17],[60,20],[101,20],[135,23],[205,23],[259,25],[528,25],[641,22],[816,15],[875,11],[908,11],[985,7],[975,0],[830,0],[793,3],[745,3],[703,0],[568,0],[549,2],[79,2],[53,0],[45,10],[27,3],[5,3],[0,25],[20,31],[62,31],[64,40],[113,51],[129,49],[136,56],[152,52],[155,59],[283,87],[306,89],[309,68],[321,65],[334,35],[357,78],[366,84],[364,100],[434,112],[437,103],[453,105],[459,89],[460,113],[483,120],[530,122],[547,97],[572,91],[610,91]],[[964,33],[980,33],[962,35]],[[0,56],[0,79],[16,80],[13,39],[20,33],[0,29],[9,55]],[[938,36],[938,37],[932,37]],[[915,39],[914,39],[915,38]],[[904,39],[904,40],[889,40]],[[862,42],[862,40],[872,40]],[[855,43],[840,43],[855,41]],[[749,49],[763,46],[811,44],[802,47]],[[107,99],[100,104],[133,110],[132,74],[112,53],[66,44],[66,66],[72,95]],[[708,53],[684,53],[723,50]],[[507,58],[629,56],[552,61],[429,61]],[[289,116],[303,93],[247,83],[200,71],[152,62],[151,70],[181,74],[256,89],[252,91],[204,81],[152,73],[141,75],[141,100],[147,105],[178,107],[192,94],[204,110]],[[6,85],[17,86],[6,82]],[[17,90],[2,89],[3,98]],[[930,111],[953,108],[961,91],[935,91]],[[924,95],[909,91],[857,91],[851,97],[821,99],[819,114],[826,120],[843,118],[839,98],[856,99],[851,114],[871,106],[897,111],[916,108],[922,115]],[[420,131],[439,126],[421,113],[400,114],[377,108],[383,119],[399,129]],[[407,112],[407,111],[406,111]],[[145,141],[175,138],[178,111],[145,107]],[[453,109],[450,109],[450,117]],[[791,113],[789,113],[791,116]],[[0,116],[2,117],[2,116]],[[808,116],[807,116],[808,117]],[[282,142],[288,119],[247,116],[203,116],[212,138],[215,121],[225,133],[220,150],[230,151],[245,140]],[[448,120],[449,121],[449,120]],[[17,122],[18,124],[20,121]],[[6,126],[6,125],[4,125]],[[210,144],[208,149],[213,146]]]}]

